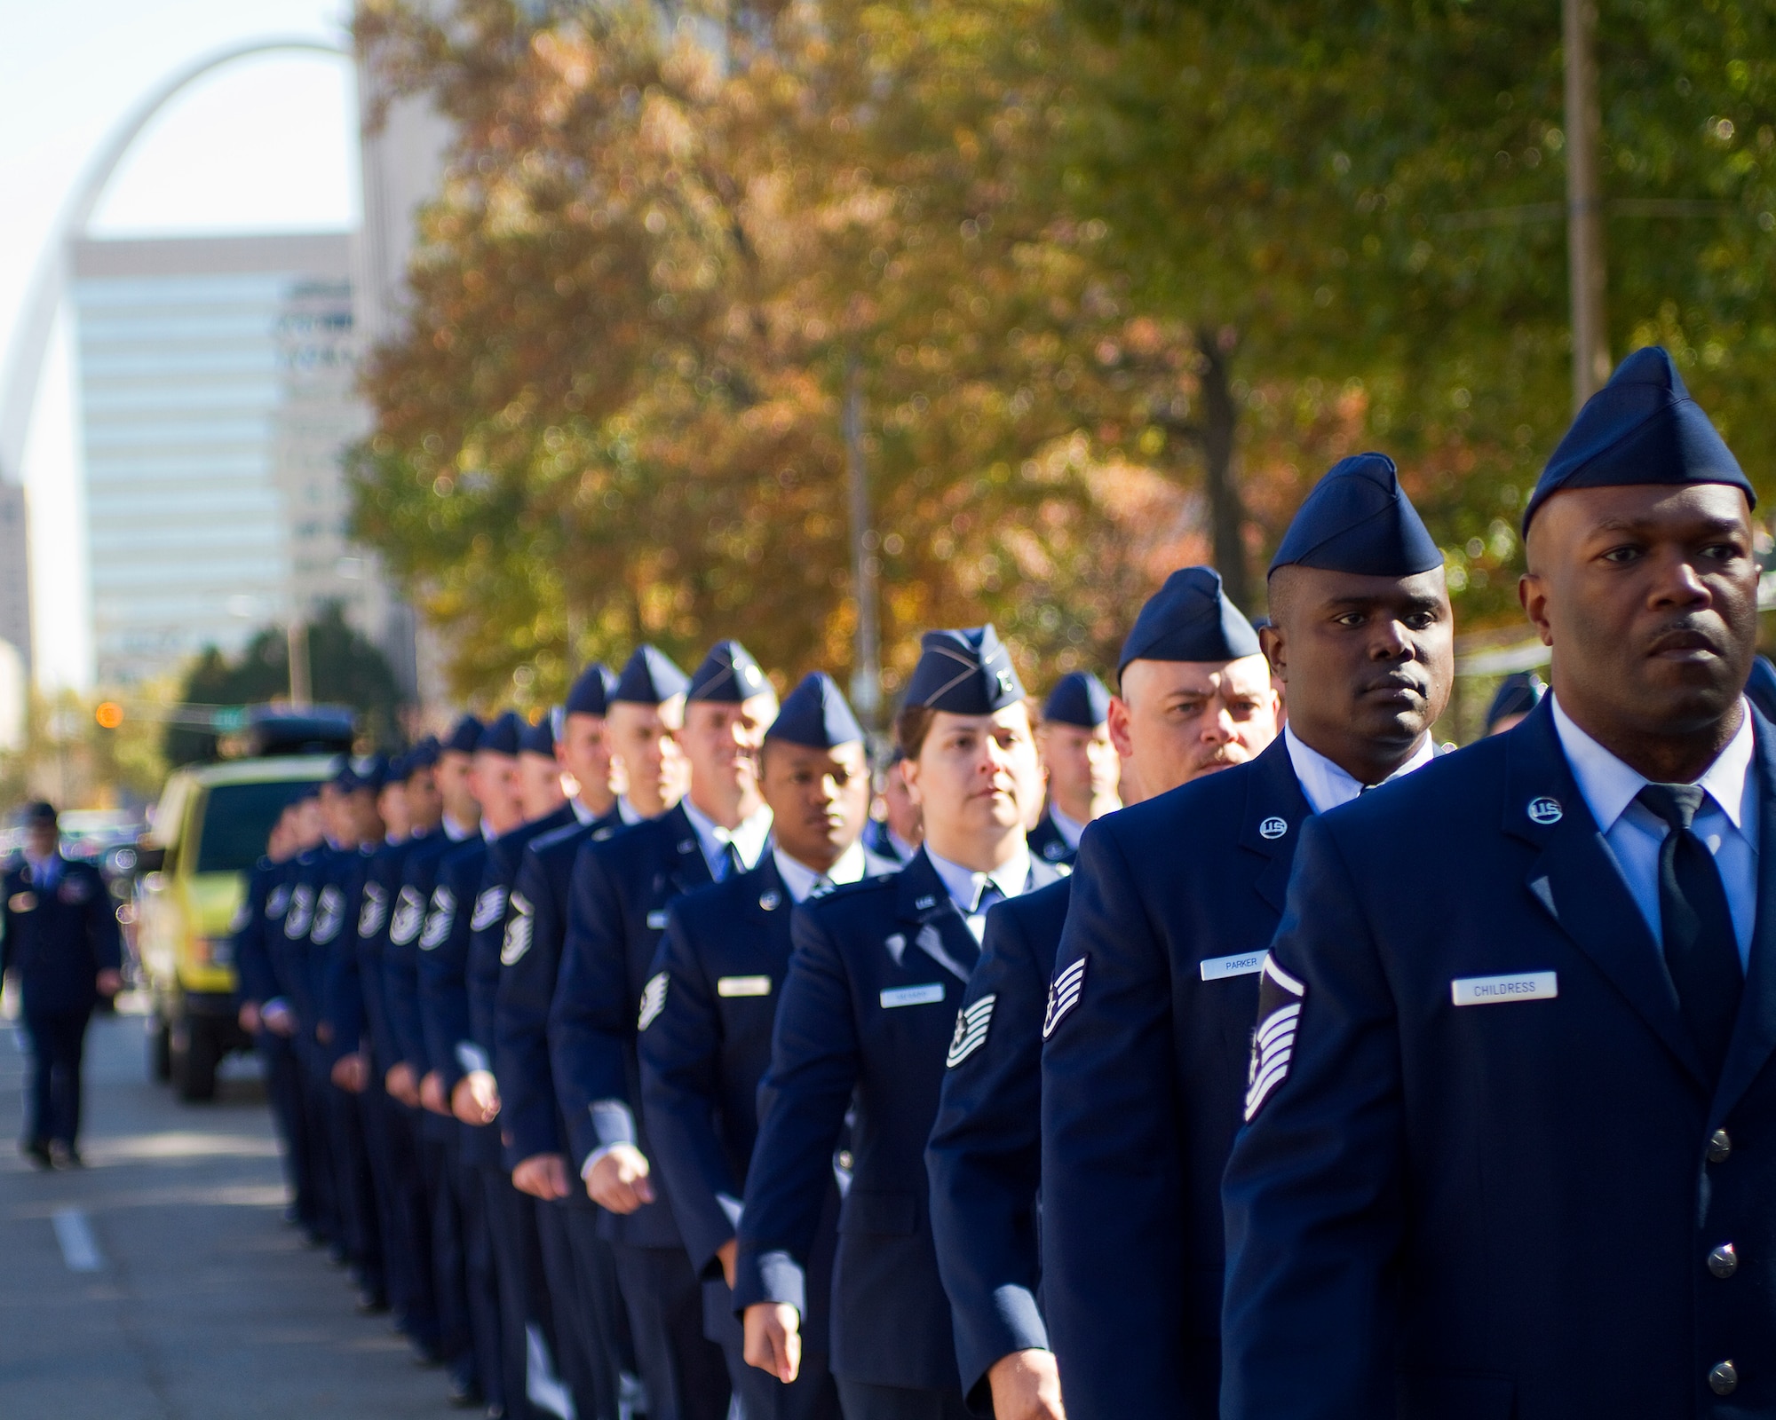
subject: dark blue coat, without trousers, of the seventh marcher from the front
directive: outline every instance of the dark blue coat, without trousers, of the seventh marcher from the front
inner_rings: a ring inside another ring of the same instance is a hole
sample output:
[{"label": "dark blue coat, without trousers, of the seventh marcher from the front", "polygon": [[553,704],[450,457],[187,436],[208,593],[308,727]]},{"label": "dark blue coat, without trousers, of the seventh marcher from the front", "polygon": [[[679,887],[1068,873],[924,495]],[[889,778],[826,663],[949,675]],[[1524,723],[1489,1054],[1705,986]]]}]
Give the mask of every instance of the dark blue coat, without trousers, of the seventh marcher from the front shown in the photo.
[{"label": "dark blue coat, without trousers, of the seventh marcher from the front", "polygon": [[[549,1060],[549,1008],[561,974],[574,864],[588,841],[604,843],[622,831],[616,809],[591,824],[568,824],[540,834],[524,850],[506,905],[499,951],[499,992],[494,1001],[494,1077],[499,1081],[499,1125],[506,1163],[538,1154],[567,1154],[567,1127]],[[581,1195],[584,1191],[581,1189]]]}]

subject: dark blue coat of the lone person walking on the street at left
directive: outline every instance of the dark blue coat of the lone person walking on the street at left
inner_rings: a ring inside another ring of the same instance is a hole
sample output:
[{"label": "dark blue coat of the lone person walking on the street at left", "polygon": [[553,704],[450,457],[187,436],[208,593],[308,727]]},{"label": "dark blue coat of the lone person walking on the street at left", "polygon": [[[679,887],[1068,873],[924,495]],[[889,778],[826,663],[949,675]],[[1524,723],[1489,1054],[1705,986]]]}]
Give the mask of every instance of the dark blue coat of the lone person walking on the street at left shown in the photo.
[{"label": "dark blue coat of the lone person walking on the street at left", "polygon": [[25,1014],[92,1010],[98,974],[123,966],[117,909],[99,870],[57,856],[39,872],[20,859],[0,891],[0,973],[18,973]]}]

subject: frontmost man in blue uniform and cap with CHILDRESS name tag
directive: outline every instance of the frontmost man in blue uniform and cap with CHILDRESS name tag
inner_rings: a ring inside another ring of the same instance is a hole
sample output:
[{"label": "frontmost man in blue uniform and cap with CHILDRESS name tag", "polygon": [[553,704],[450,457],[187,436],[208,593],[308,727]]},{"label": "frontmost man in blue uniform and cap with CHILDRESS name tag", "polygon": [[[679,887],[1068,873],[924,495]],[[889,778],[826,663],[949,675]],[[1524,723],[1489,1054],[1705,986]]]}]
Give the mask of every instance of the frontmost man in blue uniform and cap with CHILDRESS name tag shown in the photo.
[{"label": "frontmost man in blue uniform and cap with CHILDRESS name tag", "polygon": [[1524,515],[1552,694],[1304,827],[1225,1175],[1227,1420],[1776,1415],[1751,501],[1630,355]]}]

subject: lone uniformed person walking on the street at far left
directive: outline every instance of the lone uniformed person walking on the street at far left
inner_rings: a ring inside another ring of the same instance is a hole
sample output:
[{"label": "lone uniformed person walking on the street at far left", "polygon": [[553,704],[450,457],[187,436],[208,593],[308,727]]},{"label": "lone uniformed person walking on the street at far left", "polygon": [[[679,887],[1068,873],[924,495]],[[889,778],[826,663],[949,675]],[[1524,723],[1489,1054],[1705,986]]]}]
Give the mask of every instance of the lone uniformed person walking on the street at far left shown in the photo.
[{"label": "lone uniformed person walking on the street at far left", "polygon": [[30,1042],[25,1156],[39,1168],[80,1163],[80,1056],[99,996],[123,989],[123,939],[105,879],[62,857],[50,804],[25,809],[23,861],[5,872],[0,973],[18,980]]}]

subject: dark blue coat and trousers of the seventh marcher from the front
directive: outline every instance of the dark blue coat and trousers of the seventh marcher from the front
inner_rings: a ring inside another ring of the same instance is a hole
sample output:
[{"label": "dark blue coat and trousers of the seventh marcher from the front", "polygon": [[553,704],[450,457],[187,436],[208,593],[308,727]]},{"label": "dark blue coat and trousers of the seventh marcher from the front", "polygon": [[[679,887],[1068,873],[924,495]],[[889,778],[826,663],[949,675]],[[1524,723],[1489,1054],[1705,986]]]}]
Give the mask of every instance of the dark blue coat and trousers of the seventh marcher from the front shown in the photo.
[{"label": "dark blue coat and trousers of the seventh marcher from the front", "polygon": [[[494,1010],[494,1074],[508,1168],[536,1154],[572,1157],[549,1060],[549,1008],[567,939],[574,863],[586,841],[602,843],[622,827],[613,809],[591,824],[542,832],[520,854],[506,902]],[[622,1376],[636,1372],[629,1319],[611,1244],[599,1235],[599,1211],[579,1180],[570,1177],[568,1189],[567,1198],[536,1214],[561,1376],[581,1416],[616,1420]]]}]

